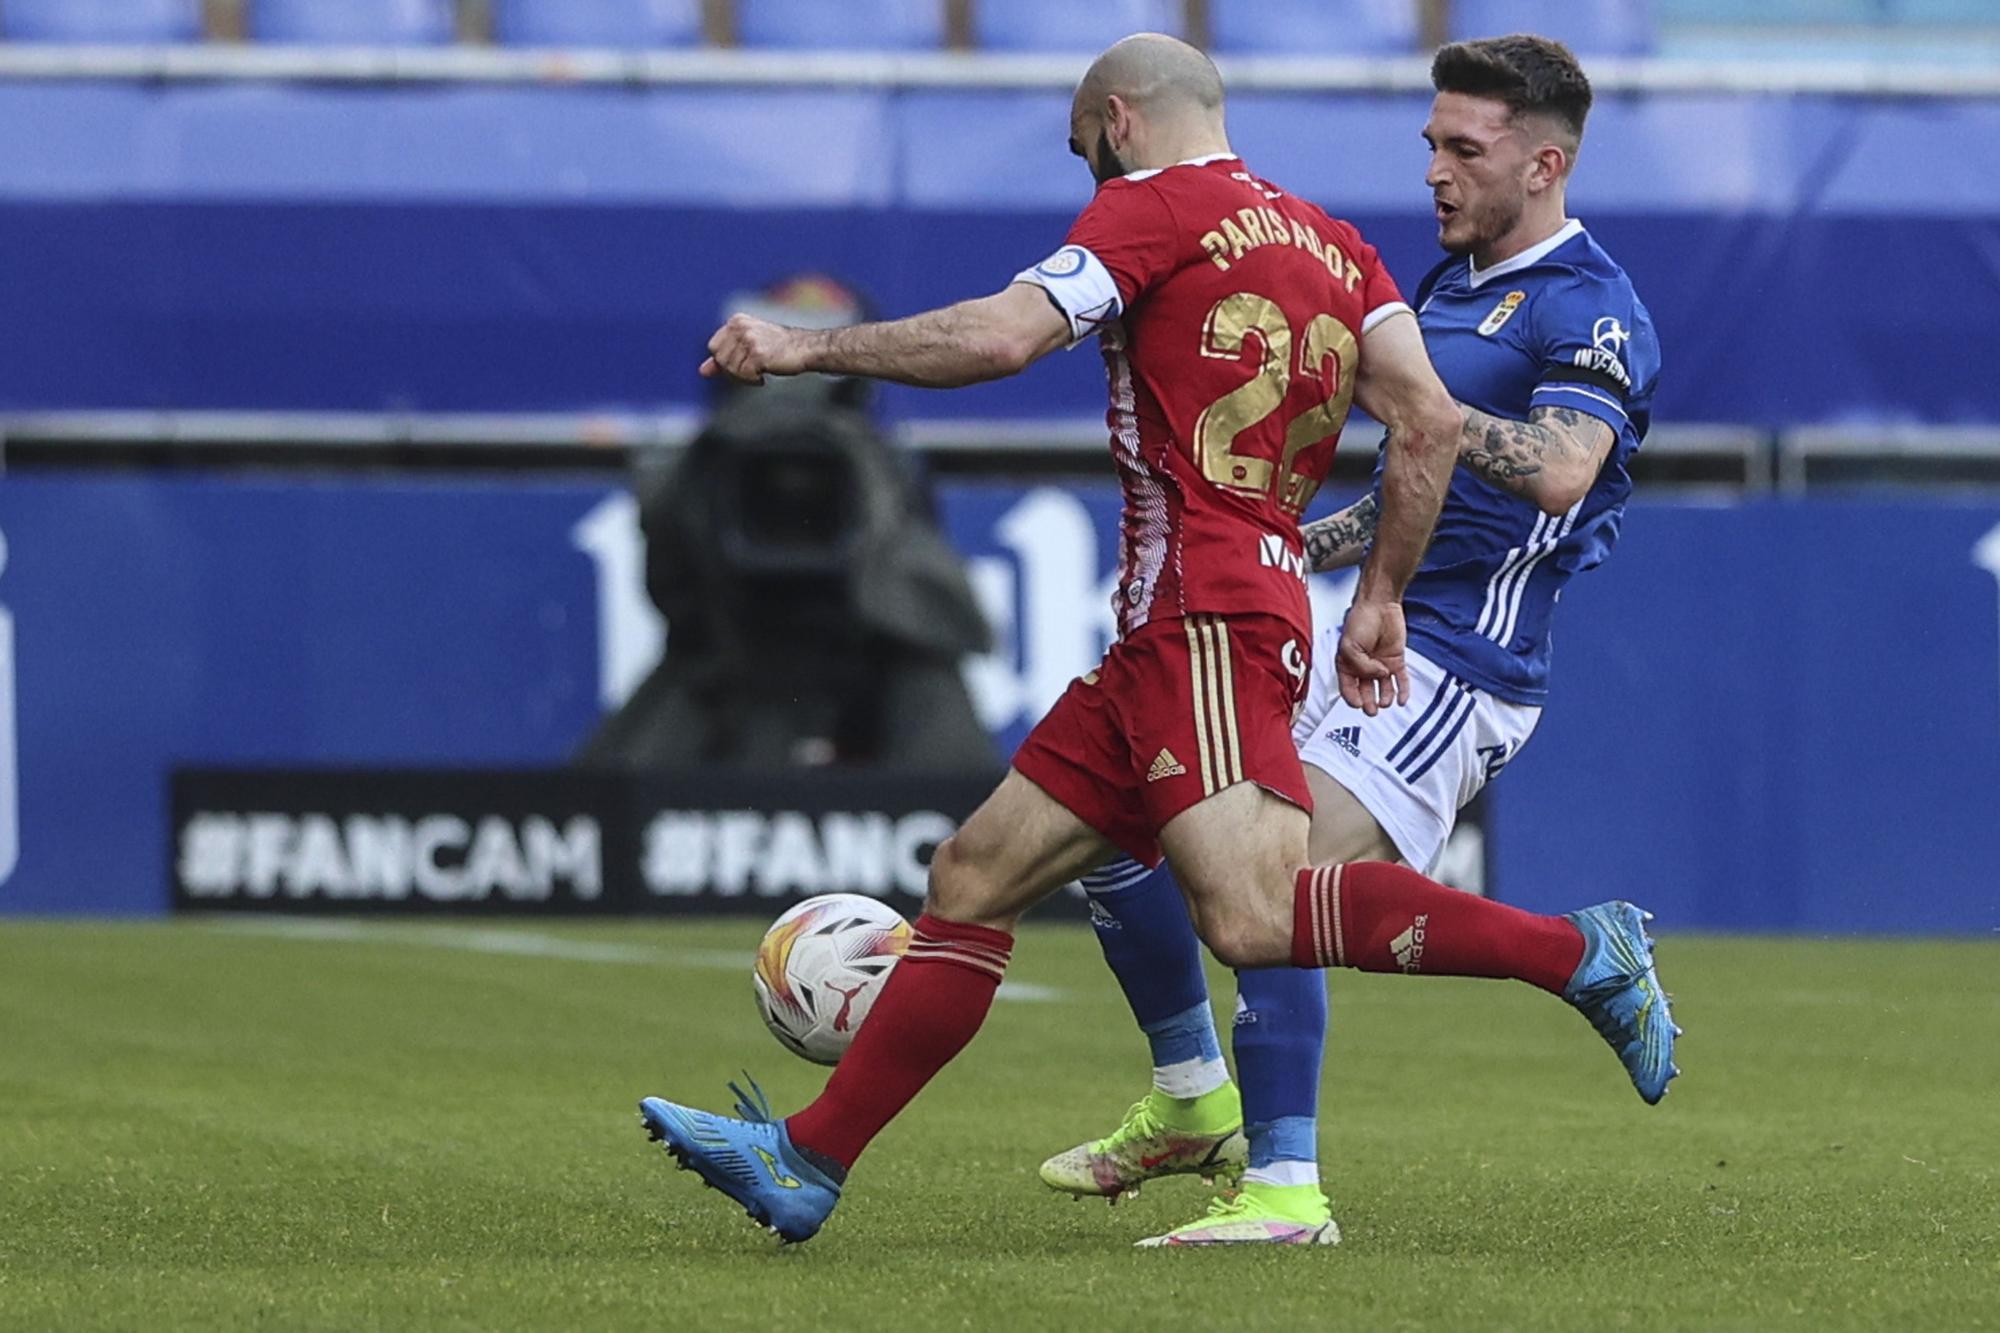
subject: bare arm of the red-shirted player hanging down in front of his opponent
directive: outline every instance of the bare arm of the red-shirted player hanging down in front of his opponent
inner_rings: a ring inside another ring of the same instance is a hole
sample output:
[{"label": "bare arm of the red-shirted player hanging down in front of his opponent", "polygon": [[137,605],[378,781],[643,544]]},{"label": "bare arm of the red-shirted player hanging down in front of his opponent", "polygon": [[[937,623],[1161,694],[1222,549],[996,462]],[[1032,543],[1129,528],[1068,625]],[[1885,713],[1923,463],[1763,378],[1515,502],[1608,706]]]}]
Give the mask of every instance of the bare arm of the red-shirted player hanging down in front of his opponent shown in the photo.
[{"label": "bare arm of the red-shirted player hanging down in front of his opponent", "polygon": [[1416,316],[1400,310],[1362,338],[1354,400],[1388,426],[1382,442],[1380,512],[1362,562],[1354,604],[1340,628],[1340,697],[1374,717],[1410,699],[1404,666],[1402,590],[1424,560],[1444,490],[1458,464],[1464,408],[1424,352]]}]

